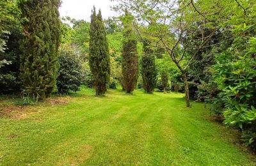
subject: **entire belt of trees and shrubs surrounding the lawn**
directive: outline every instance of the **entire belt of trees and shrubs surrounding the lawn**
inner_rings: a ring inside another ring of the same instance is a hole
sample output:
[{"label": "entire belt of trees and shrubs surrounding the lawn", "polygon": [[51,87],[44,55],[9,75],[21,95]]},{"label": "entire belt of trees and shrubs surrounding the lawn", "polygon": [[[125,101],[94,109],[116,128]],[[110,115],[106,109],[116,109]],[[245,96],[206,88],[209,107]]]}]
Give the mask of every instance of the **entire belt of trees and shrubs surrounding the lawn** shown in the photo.
[{"label": "entire belt of trees and shrubs surrounding the lawn", "polygon": [[93,8],[86,22],[60,18],[59,0],[1,0],[0,93],[24,105],[81,85],[185,93],[255,149],[255,0],[118,2],[120,17]]}]

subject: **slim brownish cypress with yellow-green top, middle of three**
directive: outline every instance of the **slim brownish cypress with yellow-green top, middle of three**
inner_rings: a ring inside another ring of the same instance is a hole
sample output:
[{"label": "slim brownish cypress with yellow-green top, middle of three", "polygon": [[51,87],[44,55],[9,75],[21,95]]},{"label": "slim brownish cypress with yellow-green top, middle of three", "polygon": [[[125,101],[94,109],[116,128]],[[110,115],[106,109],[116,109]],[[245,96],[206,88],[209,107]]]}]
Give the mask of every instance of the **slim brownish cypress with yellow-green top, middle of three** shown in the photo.
[{"label": "slim brownish cypress with yellow-green top, middle of three", "polygon": [[134,91],[138,80],[138,52],[135,33],[132,29],[132,15],[127,10],[124,17],[124,41],[122,49],[122,74],[126,93]]}]

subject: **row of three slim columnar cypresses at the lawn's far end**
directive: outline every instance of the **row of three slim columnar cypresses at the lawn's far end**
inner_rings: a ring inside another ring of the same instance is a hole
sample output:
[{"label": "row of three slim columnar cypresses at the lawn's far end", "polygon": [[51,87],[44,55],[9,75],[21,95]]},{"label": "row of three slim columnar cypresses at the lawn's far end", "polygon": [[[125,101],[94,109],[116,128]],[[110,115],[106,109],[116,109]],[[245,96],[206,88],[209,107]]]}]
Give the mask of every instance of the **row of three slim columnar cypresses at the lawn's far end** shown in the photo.
[{"label": "row of three slim columnar cypresses at the lawn's far end", "polygon": [[[132,26],[132,15],[127,10],[122,17],[124,26],[122,41],[122,87],[126,93],[132,93],[137,86],[139,74],[138,38]],[[93,8],[90,24],[90,56],[89,64],[93,74],[96,95],[106,93],[110,77],[109,47],[106,29],[99,11]],[[152,93],[156,87],[157,70],[154,51],[144,42],[144,54],[141,59],[141,75],[143,88]]]}]

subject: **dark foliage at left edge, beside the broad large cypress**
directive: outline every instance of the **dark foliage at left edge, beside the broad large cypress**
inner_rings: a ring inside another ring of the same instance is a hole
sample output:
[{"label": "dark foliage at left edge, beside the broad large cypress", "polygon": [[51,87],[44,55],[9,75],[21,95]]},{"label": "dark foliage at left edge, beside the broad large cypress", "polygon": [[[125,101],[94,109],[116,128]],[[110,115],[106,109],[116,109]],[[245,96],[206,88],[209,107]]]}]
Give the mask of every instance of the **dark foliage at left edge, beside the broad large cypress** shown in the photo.
[{"label": "dark foliage at left edge, beside the broad large cypress", "polygon": [[20,10],[17,1],[0,1],[0,93],[20,91]]}]

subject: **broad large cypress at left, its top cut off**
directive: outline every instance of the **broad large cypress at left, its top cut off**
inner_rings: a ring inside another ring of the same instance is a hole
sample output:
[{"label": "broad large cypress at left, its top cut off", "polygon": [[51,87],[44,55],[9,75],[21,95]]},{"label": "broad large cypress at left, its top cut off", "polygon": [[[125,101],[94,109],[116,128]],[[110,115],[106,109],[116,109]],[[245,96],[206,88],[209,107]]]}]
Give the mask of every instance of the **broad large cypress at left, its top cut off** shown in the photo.
[{"label": "broad large cypress at left, its top cut off", "polygon": [[60,0],[21,1],[24,40],[20,57],[20,79],[25,93],[36,99],[51,95],[56,86],[61,24]]}]

